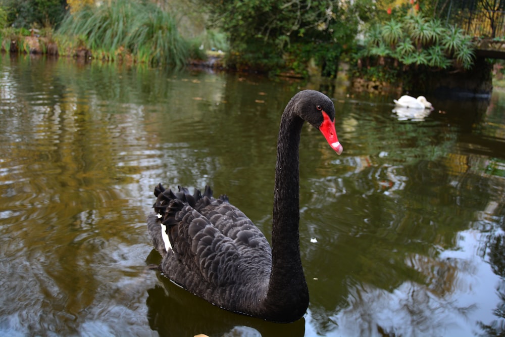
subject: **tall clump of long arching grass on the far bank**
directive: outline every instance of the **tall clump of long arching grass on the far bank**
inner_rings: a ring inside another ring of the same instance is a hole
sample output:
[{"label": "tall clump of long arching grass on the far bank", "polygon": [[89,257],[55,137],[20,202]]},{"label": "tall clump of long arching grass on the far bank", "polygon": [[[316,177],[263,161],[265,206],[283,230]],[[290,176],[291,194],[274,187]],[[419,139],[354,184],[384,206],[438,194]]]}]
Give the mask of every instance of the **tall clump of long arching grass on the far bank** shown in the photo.
[{"label": "tall clump of long arching grass on the far bank", "polygon": [[178,33],[175,19],[152,3],[116,0],[68,15],[58,31],[81,38],[93,55],[105,59],[132,55],[153,65],[180,66],[190,43]]}]

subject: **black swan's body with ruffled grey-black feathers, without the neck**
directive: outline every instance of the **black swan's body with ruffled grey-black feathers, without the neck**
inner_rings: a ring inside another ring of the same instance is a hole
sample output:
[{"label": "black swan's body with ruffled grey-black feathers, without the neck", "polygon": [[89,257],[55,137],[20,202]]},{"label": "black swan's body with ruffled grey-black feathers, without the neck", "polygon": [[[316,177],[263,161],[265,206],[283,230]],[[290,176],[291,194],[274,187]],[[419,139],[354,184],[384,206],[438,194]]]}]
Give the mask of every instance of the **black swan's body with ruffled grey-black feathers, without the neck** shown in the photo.
[{"label": "black swan's body with ruffled grey-black feathers, without the neck", "polygon": [[150,215],[147,225],[163,256],[160,269],[165,276],[236,312],[251,310],[251,303],[266,296],[272,268],[270,245],[226,196],[214,198],[209,186],[203,195],[197,189],[190,195],[183,187],[174,193],[161,184],[155,196],[157,215]]}]

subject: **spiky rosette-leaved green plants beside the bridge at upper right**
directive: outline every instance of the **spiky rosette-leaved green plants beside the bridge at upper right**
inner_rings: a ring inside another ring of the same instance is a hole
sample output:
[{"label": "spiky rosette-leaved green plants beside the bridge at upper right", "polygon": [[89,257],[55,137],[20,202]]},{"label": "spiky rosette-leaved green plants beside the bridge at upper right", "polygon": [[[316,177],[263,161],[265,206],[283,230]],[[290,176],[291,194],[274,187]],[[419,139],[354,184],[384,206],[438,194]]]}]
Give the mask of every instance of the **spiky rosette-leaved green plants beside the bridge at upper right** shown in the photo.
[{"label": "spiky rosette-leaved green plants beside the bridge at upper right", "polygon": [[[369,72],[371,66],[381,66],[380,72],[405,76],[409,69],[417,72],[449,69],[470,69],[475,60],[469,36],[457,26],[444,28],[439,19],[427,19],[409,13],[390,19],[384,24],[373,24],[365,33],[365,48],[356,55]],[[377,74],[374,74],[377,77]],[[380,76],[379,76],[380,77]]]}]

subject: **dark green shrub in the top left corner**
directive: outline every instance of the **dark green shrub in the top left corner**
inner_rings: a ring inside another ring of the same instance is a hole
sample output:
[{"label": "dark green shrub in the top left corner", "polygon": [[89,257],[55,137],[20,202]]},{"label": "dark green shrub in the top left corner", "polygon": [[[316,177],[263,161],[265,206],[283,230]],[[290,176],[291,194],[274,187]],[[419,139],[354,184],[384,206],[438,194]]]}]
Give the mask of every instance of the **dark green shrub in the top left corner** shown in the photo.
[{"label": "dark green shrub in the top left corner", "polygon": [[0,6],[15,28],[58,27],[67,13],[66,0],[0,0]]}]

